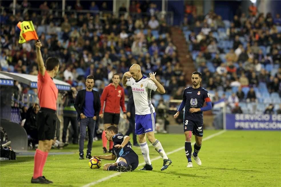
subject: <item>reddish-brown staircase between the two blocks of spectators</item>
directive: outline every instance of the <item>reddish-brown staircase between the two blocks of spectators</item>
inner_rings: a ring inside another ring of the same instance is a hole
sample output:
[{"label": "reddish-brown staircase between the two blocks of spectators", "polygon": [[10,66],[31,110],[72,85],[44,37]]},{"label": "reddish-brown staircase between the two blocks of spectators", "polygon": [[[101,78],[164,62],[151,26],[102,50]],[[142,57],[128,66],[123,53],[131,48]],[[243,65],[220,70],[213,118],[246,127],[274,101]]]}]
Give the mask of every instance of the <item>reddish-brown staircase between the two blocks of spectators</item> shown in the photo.
[{"label": "reddish-brown staircase between the two blocks of spectators", "polygon": [[191,74],[195,71],[195,67],[192,61],[192,57],[188,50],[188,45],[184,38],[184,34],[179,27],[171,28],[172,34],[171,38],[174,45],[178,51],[178,60],[180,61],[181,66],[185,74],[186,82],[191,85]]}]

